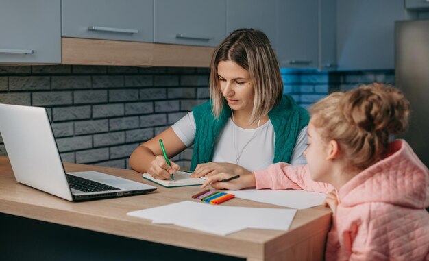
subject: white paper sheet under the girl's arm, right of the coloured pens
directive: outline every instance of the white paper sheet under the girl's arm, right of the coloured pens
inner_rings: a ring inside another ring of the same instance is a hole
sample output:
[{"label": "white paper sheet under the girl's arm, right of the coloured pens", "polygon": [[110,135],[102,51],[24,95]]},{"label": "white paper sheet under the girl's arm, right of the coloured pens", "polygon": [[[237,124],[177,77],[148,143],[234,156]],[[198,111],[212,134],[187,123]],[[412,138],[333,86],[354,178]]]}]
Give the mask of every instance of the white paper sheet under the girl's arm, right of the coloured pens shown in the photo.
[{"label": "white paper sheet under the girl's arm, right of the coloured pens", "polygon": [[308,192],[304,190],[231,190],[227,193],[234,194],[240,199],[249,199],[252,201],[270,203],[273,205],[284,206],[288,208],[311,208],[323,203],[326,195],[317,192]]}]

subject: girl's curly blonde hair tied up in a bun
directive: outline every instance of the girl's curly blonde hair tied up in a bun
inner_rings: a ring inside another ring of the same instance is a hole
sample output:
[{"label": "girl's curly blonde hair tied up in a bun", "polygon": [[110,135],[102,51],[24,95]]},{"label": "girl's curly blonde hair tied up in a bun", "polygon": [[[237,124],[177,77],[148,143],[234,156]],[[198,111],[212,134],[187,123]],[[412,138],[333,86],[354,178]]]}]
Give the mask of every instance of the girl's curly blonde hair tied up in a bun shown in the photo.
[{"label": "girl's curly blonde hair tied up in a bun", "polygon": [[402,92],[378,83],[334,92],[310,108],[317,132],[324,140],[339,142],[357,171],[384,158],[389,136],[406,132],[409,112]]}]

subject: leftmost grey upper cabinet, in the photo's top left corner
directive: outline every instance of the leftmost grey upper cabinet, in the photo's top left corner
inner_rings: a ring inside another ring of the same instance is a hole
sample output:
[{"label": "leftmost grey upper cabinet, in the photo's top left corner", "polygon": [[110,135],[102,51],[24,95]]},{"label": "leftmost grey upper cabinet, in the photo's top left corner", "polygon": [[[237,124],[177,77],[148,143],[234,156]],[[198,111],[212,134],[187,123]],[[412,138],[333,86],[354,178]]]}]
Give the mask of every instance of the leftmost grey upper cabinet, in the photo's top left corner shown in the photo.
[{"label": "leftmost grey upper cabinet, in the photo's top left corner", "polygon": [[0,63],[61,62],[60,1],[2,0]]}]

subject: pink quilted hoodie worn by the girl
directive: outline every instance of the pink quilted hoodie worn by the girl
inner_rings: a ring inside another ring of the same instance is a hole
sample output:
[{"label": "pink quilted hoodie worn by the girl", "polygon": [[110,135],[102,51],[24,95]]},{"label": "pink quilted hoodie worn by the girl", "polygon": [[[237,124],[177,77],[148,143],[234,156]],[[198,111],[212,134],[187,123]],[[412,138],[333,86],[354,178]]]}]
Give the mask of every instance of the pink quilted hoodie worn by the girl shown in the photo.
[{"label": "pink quilted hoodie worn by the girl", "polygon": [[[330,192],[308,167],[286,163],[255,171],[256,188]],[[326,260],[429,260],[429,171],[405,140],[337,192]]]}]

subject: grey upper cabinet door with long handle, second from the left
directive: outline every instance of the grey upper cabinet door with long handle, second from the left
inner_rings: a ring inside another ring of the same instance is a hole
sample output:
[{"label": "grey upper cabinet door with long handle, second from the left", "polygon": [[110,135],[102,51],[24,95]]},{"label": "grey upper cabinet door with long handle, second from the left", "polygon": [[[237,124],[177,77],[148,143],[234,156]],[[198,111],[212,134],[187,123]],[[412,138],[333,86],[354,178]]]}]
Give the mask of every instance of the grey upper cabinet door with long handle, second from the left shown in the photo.
[{"label": "grey upper cabinet door with long handle, second from the left", "polygon": [[153,12],[153,0],[62,0],[62,36],[152,42]]}]

